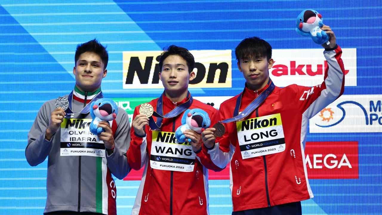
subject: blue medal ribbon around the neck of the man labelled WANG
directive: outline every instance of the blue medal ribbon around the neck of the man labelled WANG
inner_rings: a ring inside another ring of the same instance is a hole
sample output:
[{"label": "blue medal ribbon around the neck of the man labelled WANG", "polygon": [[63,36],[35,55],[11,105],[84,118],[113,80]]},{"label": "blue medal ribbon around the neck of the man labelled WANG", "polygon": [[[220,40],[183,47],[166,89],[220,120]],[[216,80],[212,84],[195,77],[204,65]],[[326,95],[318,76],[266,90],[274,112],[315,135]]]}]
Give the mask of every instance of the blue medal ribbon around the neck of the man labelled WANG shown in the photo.
[{"label": "blue medal ribbon around the neck of the man labelled WANG", "polygon": [[159,99],[157,101],[157,111],[154,111],[154,113],[152,114],[152,116],[157,117],[157,122],[154,121],[152,116],[149,117],[149,125],[150,125],[150,128],[152,130],[160,129],[160,126],[162,126],[163,118],[172,118],[172,117],[178,116],[179,114],[181,114],[185,110],[187,110],[193,102],[193,98],[192,98],[190,92],[188,91],[187,92],[188,100],[185,103],[172,109],[172,111],[170,111],[167,114],[165,114],[164,116],[162,116],[162,114],[163,114],[163,96],[165,96],[164,92],[162,93],[162,95],[159,97]]}]

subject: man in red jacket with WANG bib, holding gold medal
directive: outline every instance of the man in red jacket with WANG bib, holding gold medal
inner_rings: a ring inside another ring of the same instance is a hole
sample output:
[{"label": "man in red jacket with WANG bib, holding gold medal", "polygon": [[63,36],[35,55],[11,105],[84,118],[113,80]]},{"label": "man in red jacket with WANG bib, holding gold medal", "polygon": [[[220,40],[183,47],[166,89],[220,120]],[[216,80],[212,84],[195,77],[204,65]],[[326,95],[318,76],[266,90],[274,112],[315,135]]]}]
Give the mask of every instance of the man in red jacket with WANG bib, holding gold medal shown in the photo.
[{"label": "man in red jacket with WANG bib, holding gold medal", "polygon": [[[170,46],[159,60],[164,93],[149,104],[159,114],[173,117],[150,120],[139,114],[140,106],[134,111],[128,162],[133,169],[145,169],[133,215],[209,214],[208,171],[203,166],[207,158],[201,153],[201,135],[188,129],[183,134],[191,142],[175,142],[175,130],[182,124],[185,110],[200,108],[209,116],[217,112],[188,92],[188,83],[195,77],[194,64],[187,49]],[[151,129],[153,122],[159,128]]]}]

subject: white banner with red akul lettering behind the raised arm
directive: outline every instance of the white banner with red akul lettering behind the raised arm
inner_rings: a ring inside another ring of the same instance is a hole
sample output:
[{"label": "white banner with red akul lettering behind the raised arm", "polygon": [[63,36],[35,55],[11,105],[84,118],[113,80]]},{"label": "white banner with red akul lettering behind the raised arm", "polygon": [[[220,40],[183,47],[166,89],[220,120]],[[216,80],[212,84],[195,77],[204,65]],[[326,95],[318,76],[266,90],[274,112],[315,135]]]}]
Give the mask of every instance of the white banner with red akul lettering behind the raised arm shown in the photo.
[{"label": "white banner with red akul lettering behind the raised arm", "polygon": [[[315,86],[324,80],[328,66],[323,49],[273,49],[275,60],[269,76],[276,86]],[[357,50],[342,49],[345,86],[357,86]]]}]

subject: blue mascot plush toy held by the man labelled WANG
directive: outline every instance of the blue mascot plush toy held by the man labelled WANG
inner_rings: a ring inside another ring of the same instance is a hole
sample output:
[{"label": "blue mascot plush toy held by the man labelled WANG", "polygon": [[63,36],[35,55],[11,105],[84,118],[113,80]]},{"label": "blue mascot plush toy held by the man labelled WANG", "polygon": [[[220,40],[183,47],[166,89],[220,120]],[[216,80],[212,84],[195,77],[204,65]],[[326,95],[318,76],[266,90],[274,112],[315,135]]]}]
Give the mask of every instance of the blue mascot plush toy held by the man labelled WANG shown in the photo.
[{"label": "blue mascot plush toy held by the man labelled WANG", "polygon": [[[182,125],[179,126],[175,131],[175,138],[179,143],[186,142],[186,137],[183,132],[186,129],[191,129],[197,133],[202,133],[202,129],[210,127],[211,120],[207,112],[199,109],[187,109],[183,113]],[[191,142],[191,139],[188,139],[188,142]]]}]

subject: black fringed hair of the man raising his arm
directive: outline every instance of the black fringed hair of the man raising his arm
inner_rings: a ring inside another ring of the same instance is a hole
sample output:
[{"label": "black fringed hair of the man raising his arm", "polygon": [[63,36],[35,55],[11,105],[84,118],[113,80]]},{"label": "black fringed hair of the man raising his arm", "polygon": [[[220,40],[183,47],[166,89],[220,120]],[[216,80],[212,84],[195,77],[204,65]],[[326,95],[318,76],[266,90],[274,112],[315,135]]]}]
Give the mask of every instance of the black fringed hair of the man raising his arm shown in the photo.
[{"label": "black fringed hair of the man raising his arm", "polygon": [[272,58],[272,47],[270,44],[259,37],[249,37],[243,39],[235,49],[236,59],[244,59],[249,57],[267,57]]}]

